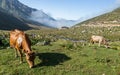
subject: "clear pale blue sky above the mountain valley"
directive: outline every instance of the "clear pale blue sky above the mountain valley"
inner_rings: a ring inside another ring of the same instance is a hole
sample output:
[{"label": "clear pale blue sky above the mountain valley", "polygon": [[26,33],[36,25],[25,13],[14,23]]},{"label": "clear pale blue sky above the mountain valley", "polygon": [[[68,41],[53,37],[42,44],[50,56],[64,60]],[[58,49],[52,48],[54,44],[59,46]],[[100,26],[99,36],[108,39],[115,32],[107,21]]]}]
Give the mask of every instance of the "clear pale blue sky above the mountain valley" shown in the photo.
[{"label": "clear pale blue sky above the mountain valley", "polygon": [[55,19],[78,20],[111,11],[120,0],[19,0],[23,4],[42,10]]}]

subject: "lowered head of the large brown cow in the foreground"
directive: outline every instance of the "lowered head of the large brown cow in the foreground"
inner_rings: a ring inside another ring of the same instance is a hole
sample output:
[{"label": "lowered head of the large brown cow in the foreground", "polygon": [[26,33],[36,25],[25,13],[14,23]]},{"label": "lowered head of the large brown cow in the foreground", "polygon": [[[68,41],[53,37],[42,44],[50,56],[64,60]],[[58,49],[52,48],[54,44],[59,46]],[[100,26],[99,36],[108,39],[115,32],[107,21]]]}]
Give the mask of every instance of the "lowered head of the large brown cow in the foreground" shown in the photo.
[{"label": "lowered head of the large brown cow in the foreground", "polygon": [[26,55],[26,60],[30,66],[30,68],[34,67],[34,59],[35,59],[35,53],[34,52],[29,52],[29,53],[25,53]]}]

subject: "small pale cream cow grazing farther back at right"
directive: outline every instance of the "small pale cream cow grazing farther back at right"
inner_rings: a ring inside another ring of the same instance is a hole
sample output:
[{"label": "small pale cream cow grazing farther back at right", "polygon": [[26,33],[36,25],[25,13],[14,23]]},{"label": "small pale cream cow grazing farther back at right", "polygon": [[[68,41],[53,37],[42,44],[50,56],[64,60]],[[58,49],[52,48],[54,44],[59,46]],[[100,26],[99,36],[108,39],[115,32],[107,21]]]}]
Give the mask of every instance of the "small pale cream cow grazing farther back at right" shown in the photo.
[{"label": "small pale cream cow grazing farther back at right", "polygon": [[108,43],[106,41],[106,39],[103,36],[96,36],[96,35],[92,35],[90,42],[92,44],[94,43],[99,43],[98,46],[100,47],[101,44],[104,44],[106,48],[108,48]]}]

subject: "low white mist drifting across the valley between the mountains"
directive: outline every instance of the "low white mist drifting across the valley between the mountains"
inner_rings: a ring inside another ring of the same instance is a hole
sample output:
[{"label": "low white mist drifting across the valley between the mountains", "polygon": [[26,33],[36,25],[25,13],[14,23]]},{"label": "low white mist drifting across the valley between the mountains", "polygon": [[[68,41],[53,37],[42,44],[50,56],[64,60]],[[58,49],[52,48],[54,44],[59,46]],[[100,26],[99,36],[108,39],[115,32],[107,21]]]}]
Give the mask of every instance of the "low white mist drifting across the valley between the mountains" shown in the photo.
[{"label": "low white mist drifting across the valley between the mountains", "polygon": [[46,14],[42,10],[33,11],[31,13],[30,19],[55,28],[60,28],[62,26],[71,27],[76,23],[75,21],[70,21],[65,19],[56,20],[53,17],[51,17],[50,14]]}]

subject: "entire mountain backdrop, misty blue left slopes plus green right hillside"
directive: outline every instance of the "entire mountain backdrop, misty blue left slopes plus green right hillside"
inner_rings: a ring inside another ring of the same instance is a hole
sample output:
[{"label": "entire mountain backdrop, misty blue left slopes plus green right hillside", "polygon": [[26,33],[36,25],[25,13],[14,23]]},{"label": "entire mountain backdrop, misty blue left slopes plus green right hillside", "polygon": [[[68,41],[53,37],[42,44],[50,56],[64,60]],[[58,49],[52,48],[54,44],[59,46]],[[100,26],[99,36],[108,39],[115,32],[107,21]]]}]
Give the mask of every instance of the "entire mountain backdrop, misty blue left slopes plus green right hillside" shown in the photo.
[{"label": "entire mountain backdrop, misty blue left slopes plus green right hillside", "polygon": [[[82,22],[83,21],[83,22]],[[78,23],[80,22],[80,23]],[[78,23],[78,24],[77,24]],[[54,19],[42,10],[28,7],[18,0],[0,0],[0,29],[28,30],[37,26],[47,28],[71,27],[77,25],[120,24],[120,8],[109,13],[85,20]],[[32,25],[32,26],[31,26]]]}]

